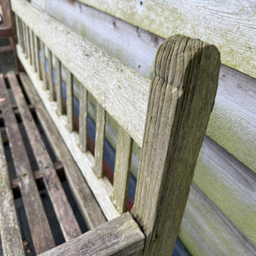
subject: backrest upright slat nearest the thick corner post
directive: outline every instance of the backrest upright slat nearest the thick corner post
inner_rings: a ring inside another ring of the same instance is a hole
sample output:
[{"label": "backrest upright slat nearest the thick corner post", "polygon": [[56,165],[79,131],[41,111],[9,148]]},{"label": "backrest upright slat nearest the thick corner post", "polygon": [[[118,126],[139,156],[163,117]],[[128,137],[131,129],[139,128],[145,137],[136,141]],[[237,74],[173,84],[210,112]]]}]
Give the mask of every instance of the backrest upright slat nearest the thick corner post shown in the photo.
[{"label": "backrest upright slat nearest the thick corner post", "polygon": [[131,153],[131,137],[119,127],[113,176],[113,203],[120,213],[126,211]]}]

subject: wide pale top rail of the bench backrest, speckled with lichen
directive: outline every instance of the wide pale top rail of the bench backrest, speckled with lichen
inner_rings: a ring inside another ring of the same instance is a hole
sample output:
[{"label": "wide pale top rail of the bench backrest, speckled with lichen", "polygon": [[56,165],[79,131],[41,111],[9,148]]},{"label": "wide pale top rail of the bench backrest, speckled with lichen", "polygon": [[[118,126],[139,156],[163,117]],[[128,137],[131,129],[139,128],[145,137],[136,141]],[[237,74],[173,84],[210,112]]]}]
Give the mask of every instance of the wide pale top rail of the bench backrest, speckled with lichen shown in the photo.
[{"label": "wide pale top rail of the bench backrest, speckled with lichen", "polygon": [[[148,101],[149,79],[126,67],[121,61],[98,49],[30,3],[13,0],[12,6],[15,13],[22,16],[61,63],[90,91],[96,101],[102,104],[102,108],[141,145],[145,122],[145,115],[141,113],[146,113],[143,102]],[[35,19],[40,22],[35,24]],[[52,34],[49,31],[57,33]],[[73,60],[79,65],[73,65]],[[91,75],[92,73],[96,75]]]}]

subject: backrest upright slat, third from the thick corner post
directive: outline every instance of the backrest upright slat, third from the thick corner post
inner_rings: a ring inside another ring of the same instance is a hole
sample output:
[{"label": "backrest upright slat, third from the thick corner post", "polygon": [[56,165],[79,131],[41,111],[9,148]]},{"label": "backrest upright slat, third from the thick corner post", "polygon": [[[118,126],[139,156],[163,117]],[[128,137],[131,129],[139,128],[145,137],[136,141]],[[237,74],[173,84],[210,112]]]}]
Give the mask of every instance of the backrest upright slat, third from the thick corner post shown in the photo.
[{"label": "backrest upright slat, third from the thick corner post", "polygon": [[79,148],[87,149],[87,90],[80,84],[79,97]]}]

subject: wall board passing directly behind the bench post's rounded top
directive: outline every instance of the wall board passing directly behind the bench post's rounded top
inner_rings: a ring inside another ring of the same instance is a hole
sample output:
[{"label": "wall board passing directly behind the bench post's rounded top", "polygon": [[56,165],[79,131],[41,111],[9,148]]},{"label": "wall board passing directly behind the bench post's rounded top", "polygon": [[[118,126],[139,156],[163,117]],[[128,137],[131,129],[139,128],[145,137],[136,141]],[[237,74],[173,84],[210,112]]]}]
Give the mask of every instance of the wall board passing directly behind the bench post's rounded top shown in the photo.
[{"label": "wall board passing directly behind the bench post's rounded top", "polygon": [[[93,44],[144,76],[152,77],[154,55],[163,38],[84,4],[71,4],[65,0],[60,5],[57,0],[53,0],[44,6],[44,1],[36,2],[49,15]],[[256,79],[222,66],[216,103],[207,130],[208,136],[228,149],[253,172],[256,172],[255,84]]]}]

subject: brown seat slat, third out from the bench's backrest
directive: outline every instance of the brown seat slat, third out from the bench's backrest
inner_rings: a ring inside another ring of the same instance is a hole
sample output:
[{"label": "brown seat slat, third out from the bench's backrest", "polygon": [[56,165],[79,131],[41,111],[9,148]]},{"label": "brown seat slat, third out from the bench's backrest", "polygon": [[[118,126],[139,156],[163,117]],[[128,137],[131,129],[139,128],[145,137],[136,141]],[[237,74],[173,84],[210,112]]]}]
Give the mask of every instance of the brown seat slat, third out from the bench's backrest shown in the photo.
[{"label": "brown seat slat, third out from the bench's backrest", "polygon": [[44,212],[44,207],[38,193],[37,184],[33,178],[32,169],[26,155],[26,148],[22,142],[15,114],[8,98],[8,92],[4,84],[3,75],[0,77],[1,95],[5,101],[1,102],[4,123],[9,137],[9,143],[15,162],[15,172],[20,178],[20,193],[26,208],[26,217],[30,227],[33,245],[36,253],[43,253],[51,247],[55,247],[55,241],[51,234],[49,223]]}]

